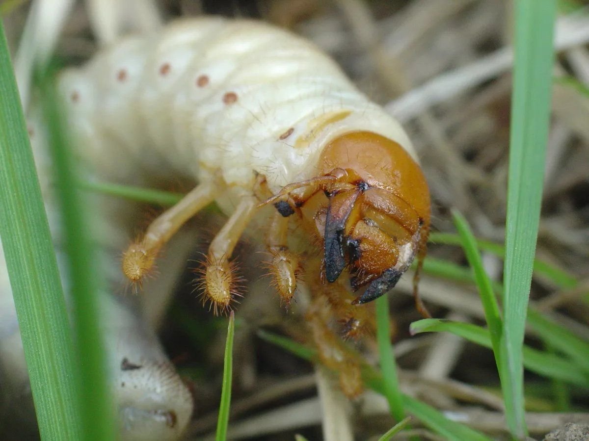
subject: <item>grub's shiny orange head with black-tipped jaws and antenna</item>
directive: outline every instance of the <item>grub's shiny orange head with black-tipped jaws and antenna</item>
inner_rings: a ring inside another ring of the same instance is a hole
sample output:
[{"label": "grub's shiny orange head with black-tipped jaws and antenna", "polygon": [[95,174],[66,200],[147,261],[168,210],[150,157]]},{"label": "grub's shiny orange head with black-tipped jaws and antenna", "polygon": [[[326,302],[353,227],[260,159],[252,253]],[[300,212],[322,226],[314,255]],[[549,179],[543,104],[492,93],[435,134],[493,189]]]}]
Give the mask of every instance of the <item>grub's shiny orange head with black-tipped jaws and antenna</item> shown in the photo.
[{"label": "grub's shiny orange head with black-tipped jaws and antenna", "polygon": [[[430,221],[425,177],[401,145],[365,131],[329,142],[318,165],[320,175],[290,186],[304,184],[302,197],[281,192],[274,205],[283,215],[292,214],[290,204],[302,206],[303,214],[314,218],[325,243],[328,282],[348,266],[354,290],[368,285],[355,303],[374,300],[395,286],[416,255],[425,254]],[[290,210],[284,210],[286,204]]]}]

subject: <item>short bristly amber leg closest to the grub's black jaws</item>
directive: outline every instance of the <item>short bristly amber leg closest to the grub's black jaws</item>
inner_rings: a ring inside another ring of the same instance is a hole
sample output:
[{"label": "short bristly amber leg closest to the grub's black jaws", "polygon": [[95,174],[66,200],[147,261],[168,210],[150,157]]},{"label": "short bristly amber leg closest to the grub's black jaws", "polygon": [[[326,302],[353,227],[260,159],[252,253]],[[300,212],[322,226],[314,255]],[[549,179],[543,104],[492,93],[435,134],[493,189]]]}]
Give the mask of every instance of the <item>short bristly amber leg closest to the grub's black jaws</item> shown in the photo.
[{"label": "short bristly amber leg closest to the grub's black jaws", "polygon": [[296,290],[297,259],[287,246],[288,218],[278,211],[273,214],[270,231],[266,237],[267,248],[272,254],[269,262],[273,283],[282,301],[288,307]]}]

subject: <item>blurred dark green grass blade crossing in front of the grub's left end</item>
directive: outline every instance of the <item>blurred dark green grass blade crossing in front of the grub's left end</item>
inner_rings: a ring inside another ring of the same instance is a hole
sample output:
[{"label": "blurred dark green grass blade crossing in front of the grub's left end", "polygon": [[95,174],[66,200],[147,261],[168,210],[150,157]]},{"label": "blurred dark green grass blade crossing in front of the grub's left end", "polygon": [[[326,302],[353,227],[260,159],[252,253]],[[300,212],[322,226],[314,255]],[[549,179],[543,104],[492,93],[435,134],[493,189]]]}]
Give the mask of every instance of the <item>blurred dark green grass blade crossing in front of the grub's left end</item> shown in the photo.
[{"label": "blurred dark green grass blade crossing in front of the grub's left end", "polygon": [[84,439],[114,439],[115,412],[107,372],[107,356],[101,333],[98,298],[101,271],[91,246],[87,209],[76,187],[76,164],[65,136],[65,121],[52,77],[42,81],[42,104],[47,122],[62,230],[68,258],[68,276],[80,357],[81,417]]}]

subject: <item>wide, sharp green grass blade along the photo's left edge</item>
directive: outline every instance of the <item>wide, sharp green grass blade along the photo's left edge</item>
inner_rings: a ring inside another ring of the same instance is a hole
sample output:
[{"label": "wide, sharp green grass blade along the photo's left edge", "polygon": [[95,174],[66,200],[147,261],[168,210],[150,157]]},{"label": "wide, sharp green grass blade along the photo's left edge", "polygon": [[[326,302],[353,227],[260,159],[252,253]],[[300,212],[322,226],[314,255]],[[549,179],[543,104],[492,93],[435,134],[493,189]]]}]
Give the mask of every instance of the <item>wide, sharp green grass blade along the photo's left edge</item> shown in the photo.
[{"label": "wide, sharp green grass blade along the photo's left edge", "polygon": [[79,440],[74,344],[2,22],[0,235],[41,437]]}]

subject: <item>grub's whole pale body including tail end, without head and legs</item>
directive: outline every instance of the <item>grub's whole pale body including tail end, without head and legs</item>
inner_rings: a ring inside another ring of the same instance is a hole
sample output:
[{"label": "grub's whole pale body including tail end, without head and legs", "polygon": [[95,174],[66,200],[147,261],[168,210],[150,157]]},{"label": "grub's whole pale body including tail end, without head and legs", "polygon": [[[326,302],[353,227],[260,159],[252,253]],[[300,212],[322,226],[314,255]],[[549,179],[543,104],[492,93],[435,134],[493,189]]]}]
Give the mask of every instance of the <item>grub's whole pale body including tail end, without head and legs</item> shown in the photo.
[{"label": "grub's whole pale body including tail end, without head and legs", "polygon": [[[415,157],[398,122],[359,92],[335,62],[305,39],[262,22],[196,18],[127,37],[84,66],[62,72],[58,86],[86,178],[149,185],[219,177],[227,190],[217,204],[227,214],[252,194],[257,174],[273,193],[317,175],[323,147],[346,132],[376,132]],[[30,118],[29,128],[59,246],[51,164],[38,119]],[[116,292],[122,285],[121,274],[114,274],[120,271],[116,256],[130,241],[134,211],[126,201],[100,199],[94,230],[100,230],[96,239],[110,258],[104,278]],[[0,270],[0,300],[6,300],[11,292],[1,262]],[[105,293],[105,336],[121,437],[176,439],[192,410],[186,386],[153,331],[111,296]],[[0,326],[0,347],[19,341],[14,305],[9,306],[4,310],[11,321]],[[15,357],[4,357],[4,349],[2,354],[1,367],[18,365],[24,372],[21,346]],[[141,369],[123,369],[123,359]],[[18,382],[26,382],[26,374],[21,377]]]}]

